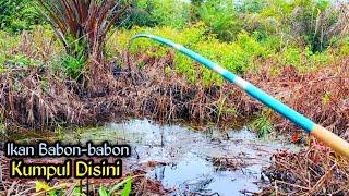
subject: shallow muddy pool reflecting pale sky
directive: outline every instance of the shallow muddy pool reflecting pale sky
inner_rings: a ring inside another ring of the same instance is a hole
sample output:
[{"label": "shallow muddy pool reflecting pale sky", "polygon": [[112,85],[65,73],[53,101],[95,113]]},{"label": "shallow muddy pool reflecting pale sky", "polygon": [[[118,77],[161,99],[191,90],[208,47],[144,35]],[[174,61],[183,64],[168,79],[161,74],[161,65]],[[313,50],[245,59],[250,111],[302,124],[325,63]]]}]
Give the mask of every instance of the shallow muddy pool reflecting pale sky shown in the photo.
[{"label": "shallow muddy pool reflecting pale sky", "polygon": [[[173,189],[172,195],[258,192],[262,167],[268,166],[273,151],[297,150],[280,139],[257,139],[246,130],[225,133],[214,128],[193,131],[181,125],[158,125],[147,120],[111,123],[75,134],[75,137],[82,143],[109,140],[130,144],[133,155],[125,160],[128,167],[145,168],[149,177]],[[71,139],[76,138],[65,135],[65,140]],[[151,162],[152,167],[145,167]]]}]

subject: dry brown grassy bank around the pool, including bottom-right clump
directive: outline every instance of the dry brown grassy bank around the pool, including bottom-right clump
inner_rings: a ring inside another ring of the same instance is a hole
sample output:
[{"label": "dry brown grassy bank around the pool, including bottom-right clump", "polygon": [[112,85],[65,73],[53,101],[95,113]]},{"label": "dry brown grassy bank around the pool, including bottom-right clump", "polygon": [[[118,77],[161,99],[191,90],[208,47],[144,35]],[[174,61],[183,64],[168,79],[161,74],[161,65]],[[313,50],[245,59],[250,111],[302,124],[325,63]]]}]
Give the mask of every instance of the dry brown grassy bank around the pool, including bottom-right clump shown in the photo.
[{"label": "dry brown grassy bank around the pool, including bottom-right clump", "polygon": [[[98,94],[88,91],[82,83],[63,79],[49,65],[8,64],[0,75],[0,114],[5,126],[1,140],[8,139],[9,133],[21,133],[23,130],[53,131],[59,126],[88,126],[130,118],[147,118],[163,123],[183,121],[202,126],[214,123],[222,128],[252,124],[254,126],[251,127],[256,131],[285,133],[286,138],[294,143],[312,146],[310,151],[297,155],[275,155],[268,172],[270,183],[274,183],[270,192],[348,192],[348,187],[339,183],[348,182],[348,161],[337,158],[330,149],[301,134],[299,127],[238,87],[229,83],[204,86],[200,78],[196,84],[189,82],[185,75],[176,71],[173,53],[169,51],[160,58],[146,53],[132,54],[130,61],[128,54],[123,52],[119,61],[108,64],[108,76],[100,78],[111,88]],[[140,68],[140,64],[143,66]],[[246,71],[242,76],[349,139],[348,58],[309,73],[300,73],[294,66],[286,65],[279,74],[273,74],[272,66],[273,63],[265,61],[261,68]],[[294,136],[294,132],[299,135]],[[314,158],[310,154],[326,156]],[[291,161],[294,157],[305,161],[305,167],[293,170],[298,166]],[[332,175],[328,171],[334,168],[337,174]],[[284,177],[286,170],[291,171],[292,177]],[[313,179],[305,181],[301,173],[309,170],[322,172],[311,173]],[[316,188],[310,188],[312,185]],[[325,191],[318,187],[325,187]]]}]

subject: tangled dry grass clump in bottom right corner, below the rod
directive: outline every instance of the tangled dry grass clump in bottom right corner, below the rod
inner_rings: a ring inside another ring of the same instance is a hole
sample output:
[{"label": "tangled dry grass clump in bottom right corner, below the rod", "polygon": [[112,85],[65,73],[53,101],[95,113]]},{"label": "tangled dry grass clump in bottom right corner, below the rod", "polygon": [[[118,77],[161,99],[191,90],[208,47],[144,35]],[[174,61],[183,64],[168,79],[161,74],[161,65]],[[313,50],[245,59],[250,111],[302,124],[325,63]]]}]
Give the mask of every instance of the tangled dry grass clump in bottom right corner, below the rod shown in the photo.
[{"label": "tangled dry grass clump in bottom right corner, below the rod", "polygon": [[275,154],[264,173],[270,186],[261,195],[349,194],[349,161],[314,146],[298,154]]}]

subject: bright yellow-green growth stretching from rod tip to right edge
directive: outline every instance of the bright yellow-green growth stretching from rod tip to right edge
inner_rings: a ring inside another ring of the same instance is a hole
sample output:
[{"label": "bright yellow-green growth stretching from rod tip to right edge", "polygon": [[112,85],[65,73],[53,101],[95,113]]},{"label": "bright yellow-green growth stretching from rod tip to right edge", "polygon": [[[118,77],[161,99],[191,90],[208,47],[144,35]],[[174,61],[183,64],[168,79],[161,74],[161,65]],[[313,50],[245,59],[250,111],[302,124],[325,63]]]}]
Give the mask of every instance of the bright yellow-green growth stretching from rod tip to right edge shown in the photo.
[{"label": "bright yellow-green growth stretching from rod tip to right edge", "polygon": [[[206,28],[207,26],[198,23],[183,29],[167,26],[121,29],[110,36],[107,49],[111,57],[118,56],[128,49],[128,44],[132,36],[140,33],[154,34],[181,44],[239,75],[243,75],[251,70],[257,71],[268,60],[273,62],[270,71],[277,74],[286,65],[292,65],[301,73],[312,72],[333,62],[339,57],[337,53],[347,53],[348,51],[345,47],[346,45],[340,45],[342,47],[338,47],[339,49],[333,51],[313,53],[309,47],[284,46],[280,42],[281,40],[273,37],[260,40],[258,34],[249,34],[244,30],[238,34],[234,41],[225,42],[215,35],[207,35]],[[190,83],[200,82],[203,86],[214,84],[220,86],[224,84],[224,79],[218,74],[156,41],[137,39],[131,45],[131,53],[133,56],[147,54],[153,58],[164,58],[168,52],[174,53],[176,72],[184,75]],[[145,65],[143,62],[140,62],[140,64],[142,66]]]}]

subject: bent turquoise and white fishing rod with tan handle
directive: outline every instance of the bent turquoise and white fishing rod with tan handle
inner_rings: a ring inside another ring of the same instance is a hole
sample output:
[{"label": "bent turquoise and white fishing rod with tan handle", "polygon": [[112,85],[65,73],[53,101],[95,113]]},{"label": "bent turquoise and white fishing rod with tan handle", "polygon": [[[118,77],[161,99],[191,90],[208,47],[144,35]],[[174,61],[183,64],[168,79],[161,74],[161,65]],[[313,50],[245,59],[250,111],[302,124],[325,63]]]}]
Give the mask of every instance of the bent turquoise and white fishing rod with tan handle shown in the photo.
[{"label": "bent turquoise and white fishing rod with tan handle", "polygon": [[181,53],[184,53],[185,56],[190,57],[191,59],[200,62],[201,64],[205,65],[206,68],[217,72],[219,75],[221,75],[227,81],[236,84],[241,89],[243,89],[246,94],[252,96],[253,98],[260,100],[267,107],[272,108],[276,112],[280,113],[285,118],[292,121],[298,126],[302,127],[306,133],[312,134],[314,137],[316,137],[318,140],[323,142],[325,145],[334,149],[337,154],[346,157],[349,159],[349,143],[345,139],[340,138],[336,134],[329,132],[325,127],[323,127],[320,124],[314,123],[309,118],[300,114],[299,112],[294,111],[287,105],[280,102],[279,100],[275,99],[274,97],[269,96],[265,91],[261,90],[250,82],[241,78],[240,76],[231,73],[227,69],[218,65],[217,63],[204,58],[203,56],[183,47],[182,45],[178,45],[169,39],[154,36],[149,34],[139,34],[134,37],[132,37],[131,41],[137,38],[148,38],[156,40],[160,44],[164,44],[166,46],[172,47],[176,50],[178,50]]}]

